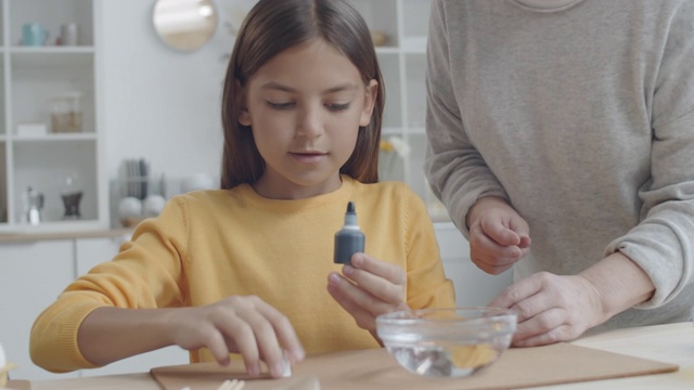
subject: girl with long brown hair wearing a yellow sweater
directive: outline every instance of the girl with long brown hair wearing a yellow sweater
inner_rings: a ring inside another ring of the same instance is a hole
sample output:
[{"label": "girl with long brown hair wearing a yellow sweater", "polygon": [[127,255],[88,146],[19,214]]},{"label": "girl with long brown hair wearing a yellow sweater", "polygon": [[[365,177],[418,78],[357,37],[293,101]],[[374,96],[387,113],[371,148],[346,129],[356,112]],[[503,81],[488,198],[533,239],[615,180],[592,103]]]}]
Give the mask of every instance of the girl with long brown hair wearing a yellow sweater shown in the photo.
[{"label": "girl with long brown hair wearing a yellow sweater", "polygon": [[[424,204],[376,183],[383,107],[369,29],[345,0],[260,0],[227,72],[221,190],[172,198],[68,286],[36,321],[34,361],[65,372],[178,344],[279,377],[283,353],[377,348],[378,314],[454,306]],[[365,253],[339,273],[350,200]]]}]

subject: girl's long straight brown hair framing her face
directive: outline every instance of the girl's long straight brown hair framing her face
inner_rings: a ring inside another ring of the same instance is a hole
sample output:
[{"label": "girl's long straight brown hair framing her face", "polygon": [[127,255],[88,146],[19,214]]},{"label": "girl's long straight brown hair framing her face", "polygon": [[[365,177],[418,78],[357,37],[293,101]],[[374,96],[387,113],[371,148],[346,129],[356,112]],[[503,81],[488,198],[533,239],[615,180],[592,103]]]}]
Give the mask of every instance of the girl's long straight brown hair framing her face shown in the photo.
[{"label": "girl's long straight brown hair framing her face", "polygon": [[265,171],[250,128],[239,123],[241,102],[235,99],[242,94],[236,88],[244,88],[250,76],[280,52],[314,38],[323,39],[349,58],[364,84],[378,82],[371,122],[360,129],[355,151],[339,169],[363,183],[378,181],[385,88],[365,22],[346,0],[260,0],[239,30],[227,68],[221,109],[222,188],[254,183]]}]

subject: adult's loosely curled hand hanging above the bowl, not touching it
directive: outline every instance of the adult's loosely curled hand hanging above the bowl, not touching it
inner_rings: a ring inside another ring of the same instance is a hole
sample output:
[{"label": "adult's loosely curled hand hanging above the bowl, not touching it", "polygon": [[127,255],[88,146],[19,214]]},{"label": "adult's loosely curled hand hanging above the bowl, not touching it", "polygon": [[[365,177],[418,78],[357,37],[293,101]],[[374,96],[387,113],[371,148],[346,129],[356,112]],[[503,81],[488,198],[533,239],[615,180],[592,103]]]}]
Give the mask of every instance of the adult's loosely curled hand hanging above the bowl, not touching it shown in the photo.
[{"label": "adult's loosely curled hand hanging above the bowl, not touching it", "polygon": [[478,199],[467,222],[470,257],[488,274],[506,271],[530,250],[528,223],[501,198]]}]

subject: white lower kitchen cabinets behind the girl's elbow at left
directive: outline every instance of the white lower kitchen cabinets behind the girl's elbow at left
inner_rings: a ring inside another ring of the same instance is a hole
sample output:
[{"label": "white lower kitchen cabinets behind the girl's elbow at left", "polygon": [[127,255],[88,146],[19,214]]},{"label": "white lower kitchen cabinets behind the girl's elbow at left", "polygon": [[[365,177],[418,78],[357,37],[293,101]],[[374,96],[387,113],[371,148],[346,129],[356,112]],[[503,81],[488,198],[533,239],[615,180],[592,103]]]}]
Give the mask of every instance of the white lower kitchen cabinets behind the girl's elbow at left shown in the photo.
[{"label": "white lower kitchen cabinets behind the girl's elbow at left", "polygon": [[189,363],[178,347],[143,353],[105,367],[52,374],[29,358],[29,333],[39,313],[75,280],[100,262],[108,261],[127,237],[95,237],[0,245],[0,343],[8,361],[17,365],[10,375],[42,380],[146,372],[153,366]]}]

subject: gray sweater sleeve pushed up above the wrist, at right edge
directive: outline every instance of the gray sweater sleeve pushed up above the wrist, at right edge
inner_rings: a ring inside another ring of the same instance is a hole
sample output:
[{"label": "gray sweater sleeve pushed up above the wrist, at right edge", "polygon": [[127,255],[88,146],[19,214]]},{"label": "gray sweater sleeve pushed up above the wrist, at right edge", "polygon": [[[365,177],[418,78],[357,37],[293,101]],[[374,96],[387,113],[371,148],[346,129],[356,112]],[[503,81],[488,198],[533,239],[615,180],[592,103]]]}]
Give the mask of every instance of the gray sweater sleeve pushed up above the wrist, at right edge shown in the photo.
[{"label": "gray sweater sleeve pushed up above the wrist, at right edge", "polygon": [[639,191],[642,220],[613,240],[651,276],[660,306],[694,282],[694,2],[682,1],[668,26],[652,98],[651,181]]}]

